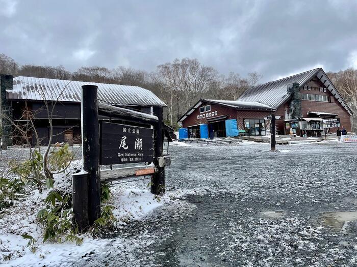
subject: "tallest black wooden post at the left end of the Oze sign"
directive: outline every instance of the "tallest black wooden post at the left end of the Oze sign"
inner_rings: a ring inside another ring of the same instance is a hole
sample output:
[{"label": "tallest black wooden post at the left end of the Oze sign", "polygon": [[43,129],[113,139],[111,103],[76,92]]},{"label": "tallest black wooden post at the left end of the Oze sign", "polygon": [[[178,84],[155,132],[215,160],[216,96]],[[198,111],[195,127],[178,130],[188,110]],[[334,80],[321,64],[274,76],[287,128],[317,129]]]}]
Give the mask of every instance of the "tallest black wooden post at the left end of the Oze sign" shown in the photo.
[{"label": "tallest black wooden post at the left end of the Oze sign", "polygon": [[83,170],[88,172],[88,222],[100,217],[98,86],[83,85],[81,98]]}]

